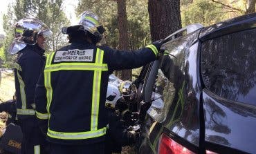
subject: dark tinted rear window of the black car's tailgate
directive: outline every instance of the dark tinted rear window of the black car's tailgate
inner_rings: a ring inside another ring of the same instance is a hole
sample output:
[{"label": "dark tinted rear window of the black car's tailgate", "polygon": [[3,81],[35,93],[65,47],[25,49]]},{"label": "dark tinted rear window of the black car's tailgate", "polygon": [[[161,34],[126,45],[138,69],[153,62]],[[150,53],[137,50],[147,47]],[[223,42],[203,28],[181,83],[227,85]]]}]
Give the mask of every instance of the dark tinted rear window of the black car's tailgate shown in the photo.
[{"label": "dark tinted rear window of the black car's tailgate", "polygon": [[203,42],[201,73],[212,93],[256,105],[256,29]]}]

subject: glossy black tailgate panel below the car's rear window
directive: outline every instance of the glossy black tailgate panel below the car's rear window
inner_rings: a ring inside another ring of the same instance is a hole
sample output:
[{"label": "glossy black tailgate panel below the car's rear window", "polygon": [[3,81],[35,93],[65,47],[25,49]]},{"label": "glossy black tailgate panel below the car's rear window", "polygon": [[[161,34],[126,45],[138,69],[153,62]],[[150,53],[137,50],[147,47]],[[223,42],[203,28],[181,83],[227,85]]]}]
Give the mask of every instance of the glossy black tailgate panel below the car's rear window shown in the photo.
[{"label": "glossy black tailgate panel below the car's rear window", "polygon": [[256,106],[223,99],[203,90],[203,108],[205,141],[256,153]]}]

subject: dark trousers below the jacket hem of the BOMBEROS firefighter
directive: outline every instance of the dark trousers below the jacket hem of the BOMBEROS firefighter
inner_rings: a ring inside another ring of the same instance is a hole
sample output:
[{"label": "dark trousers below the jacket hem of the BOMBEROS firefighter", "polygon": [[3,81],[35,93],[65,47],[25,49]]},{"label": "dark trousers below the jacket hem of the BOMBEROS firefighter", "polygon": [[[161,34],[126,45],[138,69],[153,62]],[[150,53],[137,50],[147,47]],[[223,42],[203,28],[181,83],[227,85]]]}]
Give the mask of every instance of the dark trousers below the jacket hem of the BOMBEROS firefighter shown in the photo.
[{"label": "dark trousers below the jacket hem of the BOMBEROS firefighter", "polygon": [[50,154],[104,154],[104,142],[84,145],[50,144]]}]

